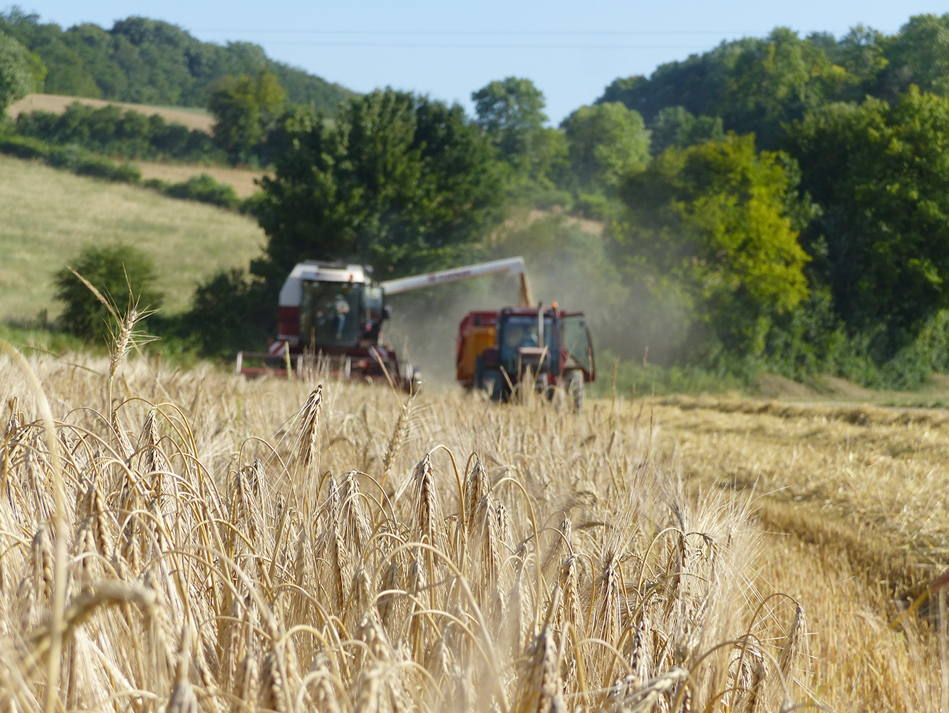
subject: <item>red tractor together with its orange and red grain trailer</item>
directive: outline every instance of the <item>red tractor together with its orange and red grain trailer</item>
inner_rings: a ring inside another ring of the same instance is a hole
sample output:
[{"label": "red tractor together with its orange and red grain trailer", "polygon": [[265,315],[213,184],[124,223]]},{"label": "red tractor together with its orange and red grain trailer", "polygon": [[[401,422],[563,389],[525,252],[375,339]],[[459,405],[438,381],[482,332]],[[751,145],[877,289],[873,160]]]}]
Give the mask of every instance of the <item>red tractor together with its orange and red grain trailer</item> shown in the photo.
[{"label": "red tractor together with its orange and red grain trailer", "polygon": [[458,326],[456,378],[492,401],[528,388],[551,400],[566,395],[581,410],[584,385],[596,378],[586,317],[556,303],[471,311]]}]

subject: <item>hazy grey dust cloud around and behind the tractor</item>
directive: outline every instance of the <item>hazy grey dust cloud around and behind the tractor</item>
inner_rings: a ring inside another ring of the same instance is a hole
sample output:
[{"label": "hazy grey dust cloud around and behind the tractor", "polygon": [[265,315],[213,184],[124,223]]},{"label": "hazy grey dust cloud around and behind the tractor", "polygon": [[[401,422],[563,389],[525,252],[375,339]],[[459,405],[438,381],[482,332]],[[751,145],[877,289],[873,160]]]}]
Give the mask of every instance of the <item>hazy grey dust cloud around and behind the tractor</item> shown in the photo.
[{"label": "hazy grey dust cloud around and behind the tractor", "polygon": [[[650,361],[674,358],[689,323],[680,300],[624,281],[603,235],[543,218],[504,236],[485,259],[513,255],[525,258],[535,303],[586,313],[602,375],[613,359],[641,361],[647,349]],[[427,385],[454,385],[458,323],[470,310],[516,305],[519,284],[517,275],[492,275],[393,295],[384,341],[422,370]]]}]

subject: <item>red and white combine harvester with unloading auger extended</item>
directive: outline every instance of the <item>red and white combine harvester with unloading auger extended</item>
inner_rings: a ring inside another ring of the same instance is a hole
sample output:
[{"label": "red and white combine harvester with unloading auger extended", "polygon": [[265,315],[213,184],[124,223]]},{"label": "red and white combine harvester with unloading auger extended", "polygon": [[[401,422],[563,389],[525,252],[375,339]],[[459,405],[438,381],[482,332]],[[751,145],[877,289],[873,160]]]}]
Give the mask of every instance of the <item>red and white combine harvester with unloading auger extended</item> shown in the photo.
[{"label": "red and white combine harvester with unloading auger extended", "polygon": [[277,338],[270,343],[270,351],[238,352],[237,371],[247,376],[299,373],[308,357],[338,378],[382,381],[406,391],[416,390],[419,372],[401,363],[392,348],[381,343],[381,326],[390,313],[386,296],[503,273],[520,276],[520,303],[532,305],[523,257],[379,283],[373,281],[372,269],[365,265],[316,260],[298,263],[280,290]]}]

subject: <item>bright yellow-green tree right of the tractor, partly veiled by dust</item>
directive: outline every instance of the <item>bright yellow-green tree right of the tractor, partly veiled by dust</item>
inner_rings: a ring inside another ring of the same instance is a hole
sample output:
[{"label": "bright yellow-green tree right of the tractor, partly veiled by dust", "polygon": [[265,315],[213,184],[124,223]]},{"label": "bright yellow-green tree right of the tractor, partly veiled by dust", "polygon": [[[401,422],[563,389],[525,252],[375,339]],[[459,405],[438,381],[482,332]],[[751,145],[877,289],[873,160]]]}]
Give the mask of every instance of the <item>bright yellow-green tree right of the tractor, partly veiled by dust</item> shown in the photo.
[{"label": "bright yellow-green tree right of the tractor, partly veiled by dust", "polygon": [[794,189],[780,157],[734,135],[668,149],[624,182],[617,253],[645,287],[636,321],[667,350],[655,356],[761,354],[773,315],[808,293]]}]

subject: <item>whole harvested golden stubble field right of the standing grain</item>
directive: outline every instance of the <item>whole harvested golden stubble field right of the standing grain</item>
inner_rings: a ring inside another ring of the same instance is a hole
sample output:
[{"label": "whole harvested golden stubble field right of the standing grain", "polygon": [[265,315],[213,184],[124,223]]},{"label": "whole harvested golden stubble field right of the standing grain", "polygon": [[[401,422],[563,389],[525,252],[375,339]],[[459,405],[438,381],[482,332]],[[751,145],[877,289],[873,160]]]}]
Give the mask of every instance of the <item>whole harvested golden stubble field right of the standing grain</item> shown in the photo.
[{"label": "whole harvested golden stubble field right of the standing grain", "polygon": [[[809,602],[817,701],[939,709],[946,591],[927,598],[926,584],[949,563],[944,414],[716,399],[646,407],[694,493],[750,498],[770,553],[757,587]],[[901,618],[920,594],[921,609]]]}]

